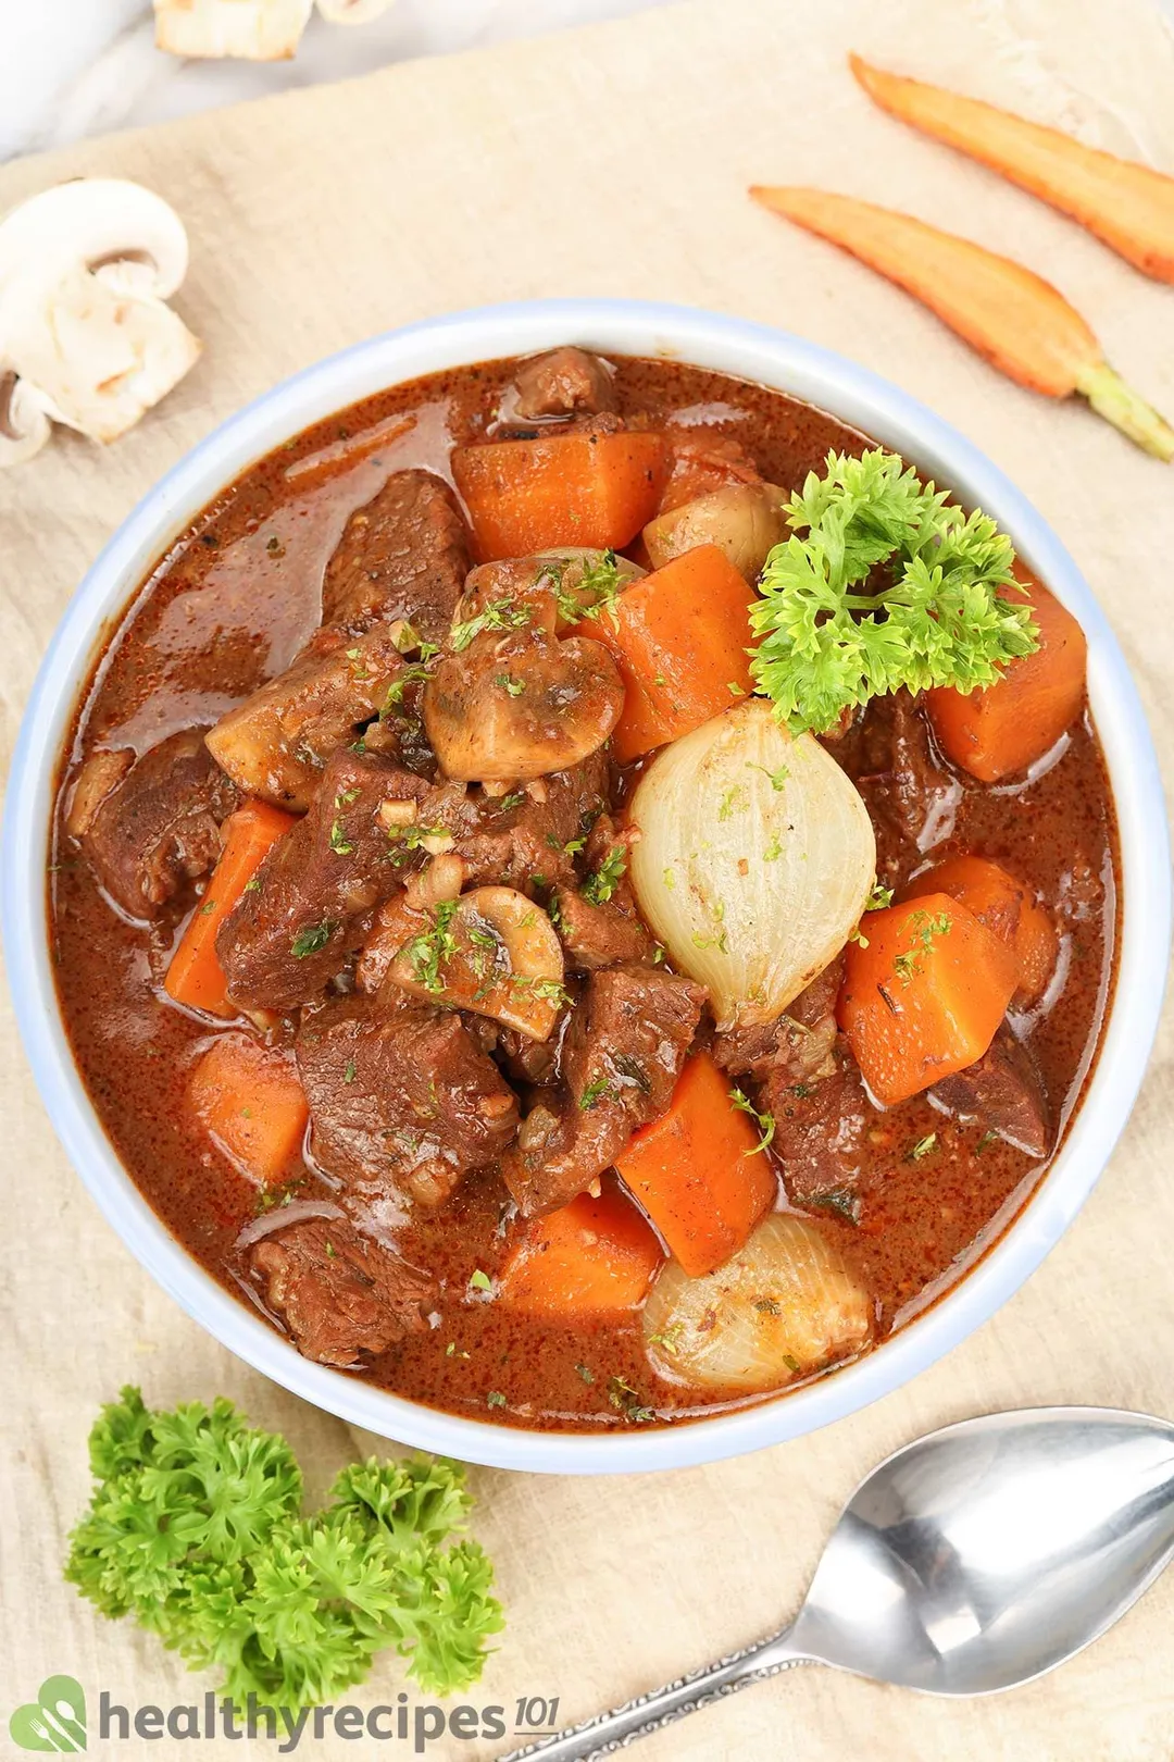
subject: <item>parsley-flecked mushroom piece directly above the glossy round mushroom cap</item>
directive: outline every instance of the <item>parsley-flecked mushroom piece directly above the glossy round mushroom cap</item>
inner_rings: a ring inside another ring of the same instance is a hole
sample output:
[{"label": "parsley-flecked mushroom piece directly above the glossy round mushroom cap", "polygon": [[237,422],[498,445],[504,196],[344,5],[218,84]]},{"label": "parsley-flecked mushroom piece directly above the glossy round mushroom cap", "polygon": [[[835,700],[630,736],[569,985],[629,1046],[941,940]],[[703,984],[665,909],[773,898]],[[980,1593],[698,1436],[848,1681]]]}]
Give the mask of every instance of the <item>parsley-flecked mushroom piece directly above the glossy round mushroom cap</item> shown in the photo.
[{"label": "parsley-flecked mushroom piece directly above the glossy round mushroom cap", "polygon": [[602,617],[614,596],[642,574],[644,569],[627,557],[584,544],[484,562],[465,581],[452,629],[459,636],[482,618],[491,629],[525,627],[561,636],[583,618]]}]

